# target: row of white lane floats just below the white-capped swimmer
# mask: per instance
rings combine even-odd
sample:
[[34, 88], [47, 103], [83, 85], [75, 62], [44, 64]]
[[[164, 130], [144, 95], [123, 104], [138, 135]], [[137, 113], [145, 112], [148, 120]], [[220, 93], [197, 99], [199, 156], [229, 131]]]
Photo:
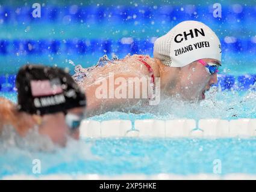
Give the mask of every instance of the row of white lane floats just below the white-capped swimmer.
[[84, 120], [80, 126], [81, 138], [98, 137], [256, 137], [256, 119], [195, 119], [108, 121]]

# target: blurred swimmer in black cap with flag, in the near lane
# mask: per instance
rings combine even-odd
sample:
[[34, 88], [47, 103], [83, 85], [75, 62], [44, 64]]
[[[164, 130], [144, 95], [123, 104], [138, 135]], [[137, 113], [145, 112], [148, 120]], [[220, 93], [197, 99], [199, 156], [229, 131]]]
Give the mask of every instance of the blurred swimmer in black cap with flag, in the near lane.
[[65, 146], [67, 136], [79, 139], [86, 96], [72, 77], [57, 67], [25, 65], [16, 77], [17, 102], [0, 98], [0, 134], [11, 125], [24, 137], [31, 128]]

